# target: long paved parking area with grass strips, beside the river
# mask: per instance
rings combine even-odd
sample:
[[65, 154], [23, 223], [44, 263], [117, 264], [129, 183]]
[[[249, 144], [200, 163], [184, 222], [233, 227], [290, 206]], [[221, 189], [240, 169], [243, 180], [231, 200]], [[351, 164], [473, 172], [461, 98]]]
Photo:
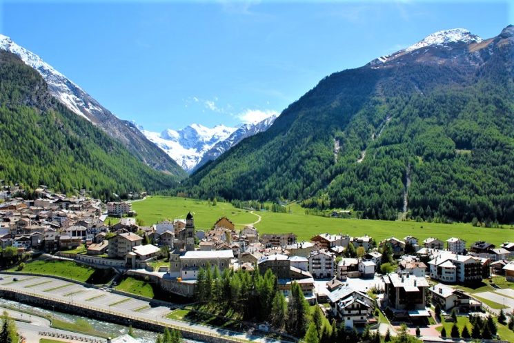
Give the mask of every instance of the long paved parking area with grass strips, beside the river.
[[[12, 279], [17, 277], [18, 281]], [[87, 288], [73, 282], [55, 279], [53, 277], [3, 275], [0, 288], [10, 289], [19, 293], [30, 293], [44, 299], [74, 304], [95, 311], [112, 313], [145, 322], [153, 322], [165, 326], [179, 326], [181, 329], [200, 331], [206, 335], [222, 335], [235, 340], [251, 340], [261, 343], [279, 343], [279, 340], [270, 340], [262, 335], [248, 335], [235, 331], [219, 329], [215, 326], [206, 326], [166, 318], [172, 309], [168, 306], [152, 307], [150, 302], [137, 300], [127, 295], [119, 295], [96, 288]]]

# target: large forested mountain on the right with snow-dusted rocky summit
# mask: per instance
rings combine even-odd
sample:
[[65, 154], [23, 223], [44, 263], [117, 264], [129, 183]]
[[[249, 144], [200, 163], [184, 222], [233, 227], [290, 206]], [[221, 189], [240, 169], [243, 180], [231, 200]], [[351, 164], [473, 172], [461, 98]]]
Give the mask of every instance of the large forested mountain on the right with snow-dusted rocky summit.
[[437, 32], [336, 72], [183, 190], [364, 217], [514, 222], [514, 27]]

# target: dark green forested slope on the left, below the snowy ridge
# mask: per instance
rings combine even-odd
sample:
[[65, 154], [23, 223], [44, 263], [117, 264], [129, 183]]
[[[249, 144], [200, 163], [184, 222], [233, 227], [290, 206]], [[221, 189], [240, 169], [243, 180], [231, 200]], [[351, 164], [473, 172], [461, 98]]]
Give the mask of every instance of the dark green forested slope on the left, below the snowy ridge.
[[57, 101], [46, 81], [17, 56], [0, 51], [0, 179], [30, 188], [84, 188], [109, 199], [175, 185], [118, 141]]

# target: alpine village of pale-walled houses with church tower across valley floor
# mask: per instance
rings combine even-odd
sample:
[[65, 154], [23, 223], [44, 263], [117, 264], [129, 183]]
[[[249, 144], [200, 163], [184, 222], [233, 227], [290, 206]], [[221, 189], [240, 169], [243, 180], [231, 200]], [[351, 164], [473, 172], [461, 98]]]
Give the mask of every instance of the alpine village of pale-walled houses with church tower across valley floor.
[[[365, 233], [318, 233], [304, 242], [295, 233], [259, 234], [251, 225], [238, 230], [228, 217], [210, 228], [196, 228], [192, 213], [140, 226], [130, 202], [103, 204], [46, 188], [36, 190], [37, 199], [22, 195], [19, 186], [3, 186], [0, 192], [1, 251], [15, 251], [19, 258], [11, 256], [10, 261], [21, 264], [21, 272], [24, 260], [43, 253], [46, 259], [155, 280], [164, 291], [190, 298], [202, 269], [271, 271], [285, 297], [299, 285], [310, 306], [319, 306], [328, 320], [349, 330], [395, 335], [395, 325], [406, 323], [412, 335], [466, 338], [468, 333], [434, 327], [470, 314], [499, 321], [508, 315], [513, 322], [512, 287], [468, 291], [497, 276], [514, 282], [513, 242], [495, 246], [414, 235], [376, 242]], [[121, 219], [110, 225], [108, 216]], [[273, 330], [268, 323], [259, 328]], [[496, 332], [482, 336], [502, 339]]]

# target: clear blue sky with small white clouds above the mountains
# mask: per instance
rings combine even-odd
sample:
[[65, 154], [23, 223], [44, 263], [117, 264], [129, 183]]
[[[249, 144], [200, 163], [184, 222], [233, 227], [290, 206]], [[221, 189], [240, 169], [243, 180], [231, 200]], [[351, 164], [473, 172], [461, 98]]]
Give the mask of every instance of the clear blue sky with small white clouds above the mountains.
[[493, 37], [509, 1], [2, 1], [1, 33], [161, 131], [281, 112], [333, 72], [438, 30]]

